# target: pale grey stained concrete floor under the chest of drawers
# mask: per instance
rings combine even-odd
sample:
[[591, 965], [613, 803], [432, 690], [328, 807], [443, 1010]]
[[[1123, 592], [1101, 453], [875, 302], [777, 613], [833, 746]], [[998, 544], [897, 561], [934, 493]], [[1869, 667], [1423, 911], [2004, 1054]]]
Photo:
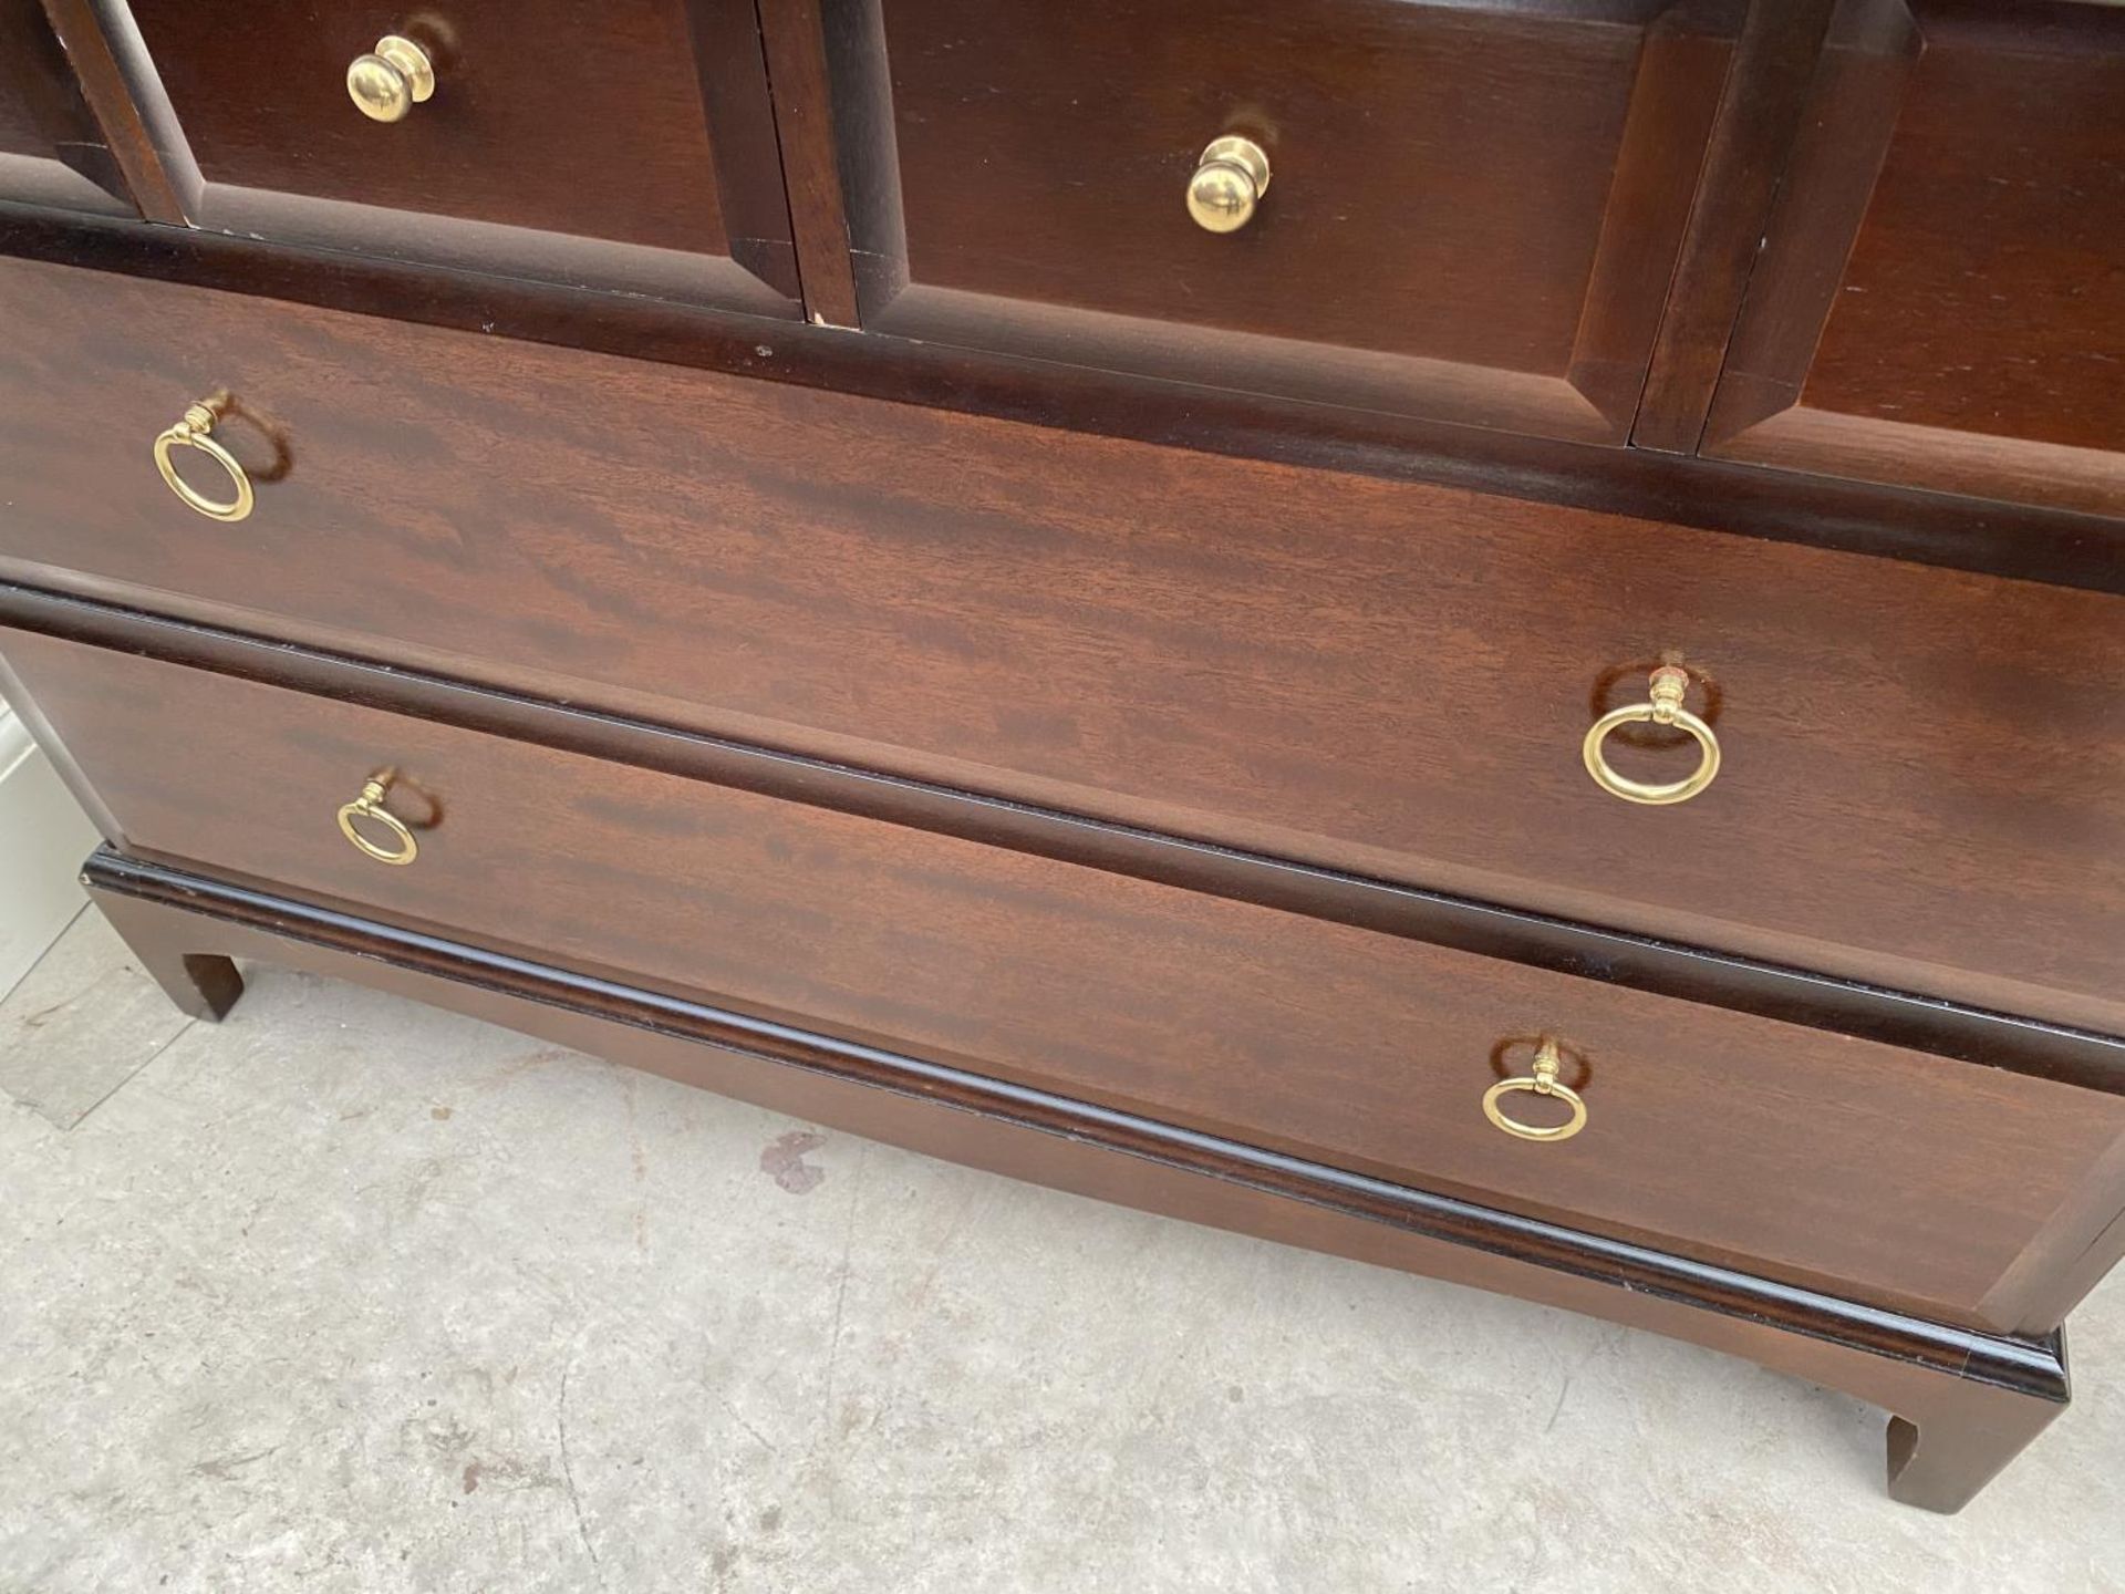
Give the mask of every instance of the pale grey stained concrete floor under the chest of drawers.
[[2125, 1277], [1959, 1517], [1687, 1345], [355, 986], [0, 1003], [0, 1590], [2125, 1590]]

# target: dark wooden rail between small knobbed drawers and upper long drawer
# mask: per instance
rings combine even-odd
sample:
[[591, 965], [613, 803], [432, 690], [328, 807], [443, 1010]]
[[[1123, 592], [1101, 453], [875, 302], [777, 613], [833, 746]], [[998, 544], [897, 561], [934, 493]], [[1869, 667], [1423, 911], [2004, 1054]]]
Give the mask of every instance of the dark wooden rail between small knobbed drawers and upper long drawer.
[[0, 255], [990, 419], [2125, 593], [2125, 521], [1526, 438], [0, 202]]

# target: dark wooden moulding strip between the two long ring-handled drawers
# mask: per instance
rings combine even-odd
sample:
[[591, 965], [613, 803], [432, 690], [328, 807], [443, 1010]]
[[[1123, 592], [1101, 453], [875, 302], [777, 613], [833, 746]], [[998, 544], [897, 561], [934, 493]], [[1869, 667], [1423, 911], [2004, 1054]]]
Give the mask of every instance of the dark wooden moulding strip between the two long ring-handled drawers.
[[[2019, 1014], [1859, 986], [1808, 969], [1751, 963], [1609, 927], [1515, 912], [1468, 897], [1296, 865], [1290, 859], [1188, 842], [1031, 803], [999, 801], [935, 782], [691, 733], [669, 723], [623, 718], [580, 703], [527, 697], [397, 663], [295, 648], [270, 638], [246, 638], [62, 593], [0, 584], [0, 623], [1460, 952], [1511, 959], [1679, 1001], [1730, 1007], [2093, 1090], [2125, 1092], [2125, 1039]], [[21, 697], [28, 699], [28, 691]], [[36, 706], [28, 708], [34, 714]], [[57, 742], [55, 731], [40, 723], [38, 729], [47, 742]], [[76, 795], [100, 812], [94, 791], [79, 786]], [[102, 818], [106, 829], [117, 829], [117, 820]]]

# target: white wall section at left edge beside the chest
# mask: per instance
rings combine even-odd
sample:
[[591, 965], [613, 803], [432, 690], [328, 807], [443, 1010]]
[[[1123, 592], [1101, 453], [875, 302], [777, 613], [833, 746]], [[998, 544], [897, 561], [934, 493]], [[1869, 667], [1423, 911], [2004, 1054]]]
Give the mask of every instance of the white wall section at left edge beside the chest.
[[96, 827], [0, 703], [0, 997], [87, 905], [81, 861]]

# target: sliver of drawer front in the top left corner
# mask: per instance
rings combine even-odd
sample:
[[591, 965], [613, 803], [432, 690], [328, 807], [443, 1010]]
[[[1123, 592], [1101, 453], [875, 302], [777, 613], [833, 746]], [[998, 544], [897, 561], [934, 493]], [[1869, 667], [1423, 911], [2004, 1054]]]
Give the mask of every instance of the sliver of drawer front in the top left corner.
[[125, 183], [38, 0], [0, 0], [0, 202], [130, 217]]

